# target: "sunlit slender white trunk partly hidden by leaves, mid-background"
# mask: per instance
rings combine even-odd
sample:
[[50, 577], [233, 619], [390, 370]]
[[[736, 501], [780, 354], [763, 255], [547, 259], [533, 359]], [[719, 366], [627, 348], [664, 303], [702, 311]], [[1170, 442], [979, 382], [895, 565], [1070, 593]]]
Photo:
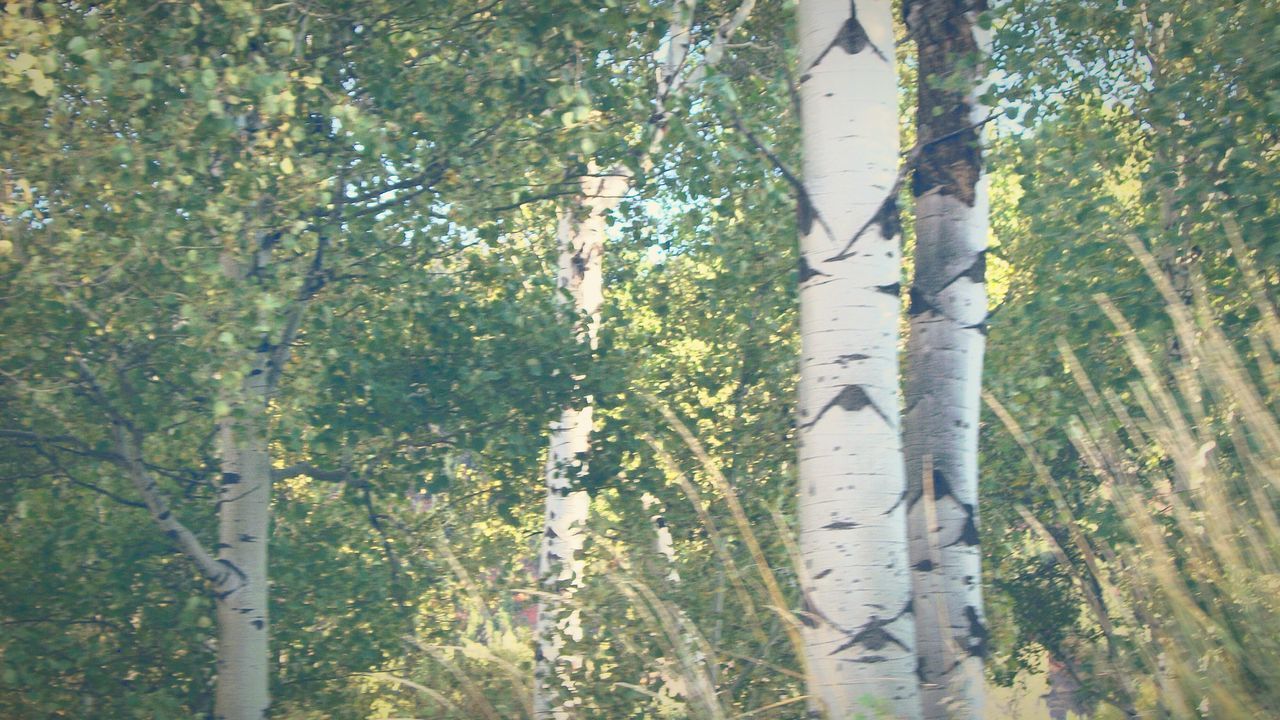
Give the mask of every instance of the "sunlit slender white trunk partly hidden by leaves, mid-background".
[[[561, 243], [559, 287], [568, 292], [582, 316], [579, 340], [596, 345], [600, 305], [604, 301], [605, 217], [626, 193], [630, 178], [623, 174], [581, 178], [581, 196], [566, 209], [557, 234]], [[538, 638], [534, 669], [535, 717], [571, 717], [575, 700], [568, 674], [581, 657], [563, 651], [568, 641], [580, 641], [579, 612], [570, 610], [572, 596], [582, 585], [581, 556], [590, 497], [581, 486], [591, 442], [591, 405], [566, 407], [552, 425], [547, 457], [547, 519], [539, 552], [538, 574], [549, 597], [538, 607]]]

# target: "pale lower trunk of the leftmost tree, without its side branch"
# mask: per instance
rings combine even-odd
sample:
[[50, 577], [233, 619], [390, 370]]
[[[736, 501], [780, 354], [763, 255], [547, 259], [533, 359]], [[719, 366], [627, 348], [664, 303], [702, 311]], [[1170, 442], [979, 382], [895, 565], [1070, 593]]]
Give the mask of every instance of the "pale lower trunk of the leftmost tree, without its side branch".
[[[219, 720], [262, 720], [268, 689], [268, 566], [271, 461], [266, 441], [270, 352], [260, 351], [243, 383], [239, 418], [218, 427], [221, 482], [218, 489], [218, 562], [229, 573], [218, 598]], [[234, 405], [233, 405], [234, 406]]]

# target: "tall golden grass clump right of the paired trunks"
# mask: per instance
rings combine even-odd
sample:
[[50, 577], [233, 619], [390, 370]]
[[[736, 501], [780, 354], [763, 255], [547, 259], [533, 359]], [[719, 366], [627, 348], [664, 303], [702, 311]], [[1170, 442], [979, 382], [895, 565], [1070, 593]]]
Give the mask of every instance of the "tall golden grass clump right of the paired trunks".
[[1193, 283], [1198, 291], [1185, 302], [1137, 238], [1128, 245], [1164, 300], [1181, 359], [1161, 366], [1101, 295], [1094, 300], [1140, 379], [1120, 388], [1096, 384], [1060, 342], [1085, 397], [1068, 436], [1124, 520], [1124, 541], [1083, 532], [1016, 418], [986, 397], [1068, 529], [1074, 564], [1021, 511], [1074, 573], [1103, 638], [1092, 679], [1111, 687], [1129, 716], [1280, 717], [1280, 315], [1234, 240], [1257, 314], [1248, 360], [1203, 282]]

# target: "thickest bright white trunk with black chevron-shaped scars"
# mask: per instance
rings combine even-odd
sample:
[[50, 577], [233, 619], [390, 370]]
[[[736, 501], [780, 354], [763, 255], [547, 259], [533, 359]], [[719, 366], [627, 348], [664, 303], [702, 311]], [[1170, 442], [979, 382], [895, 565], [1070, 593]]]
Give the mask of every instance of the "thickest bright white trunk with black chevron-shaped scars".
[[890, 0], [800, 1], [800, 552], [809, 693], [920, 715], [899, 439], [901, 251]]

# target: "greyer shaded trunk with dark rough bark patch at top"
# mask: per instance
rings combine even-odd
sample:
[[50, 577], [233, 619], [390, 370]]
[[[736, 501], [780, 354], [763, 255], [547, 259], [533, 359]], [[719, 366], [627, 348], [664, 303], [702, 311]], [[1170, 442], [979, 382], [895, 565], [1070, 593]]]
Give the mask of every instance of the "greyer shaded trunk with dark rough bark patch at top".
[[[913, 178], [905, 450], [922, 700], [928, 719], [982, 717], [987, 628], [978, 547], [987, 179], [977, 100], [983, 0], [909, 0], [922, 143]], [[957, 88], [957, 85], [960, 86]], [[965, 90], [968, 87], [968, 90]]]

